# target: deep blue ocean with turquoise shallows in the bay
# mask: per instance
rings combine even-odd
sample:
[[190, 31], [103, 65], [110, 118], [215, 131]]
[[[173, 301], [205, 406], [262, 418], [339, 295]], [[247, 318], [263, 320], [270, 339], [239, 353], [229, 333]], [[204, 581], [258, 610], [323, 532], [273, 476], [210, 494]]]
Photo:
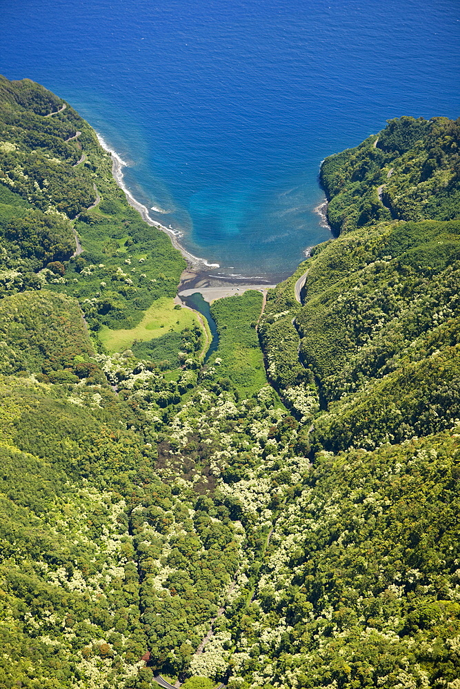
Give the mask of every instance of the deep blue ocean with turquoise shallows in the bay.
[[70, 101], [154, 219], [220, 271], [329, 237], [321, 160], [403, 114], [460, 116], [457, 0], [1, 0], [0, 73]]

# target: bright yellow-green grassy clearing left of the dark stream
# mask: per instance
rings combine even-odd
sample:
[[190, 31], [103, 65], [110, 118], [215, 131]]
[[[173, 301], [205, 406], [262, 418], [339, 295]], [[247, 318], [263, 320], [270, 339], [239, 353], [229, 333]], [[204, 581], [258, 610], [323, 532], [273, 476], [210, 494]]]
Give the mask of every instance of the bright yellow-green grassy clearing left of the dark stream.
[[109, 352], [123, 351], [132, 345], [134, 340], [146, 342], [159, 338], [168, 331], [180, 332], [183, 328], [197, 323], [197, 318], [190, 309], [174, 309], [174, 300], [161, 297], [145, 312], [143, 319], [130, 330], [112, 330], [103, 325], [99, 338]]

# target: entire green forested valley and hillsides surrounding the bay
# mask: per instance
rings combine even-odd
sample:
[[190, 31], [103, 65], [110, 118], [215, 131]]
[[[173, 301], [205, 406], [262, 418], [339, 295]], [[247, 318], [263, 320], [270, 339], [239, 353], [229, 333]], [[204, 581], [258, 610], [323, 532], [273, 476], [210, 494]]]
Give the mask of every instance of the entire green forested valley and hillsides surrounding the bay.
[[459, 134], [327, 158], [336, 238], [205, 363], [91, 127], [0, 77], [0, 686], [459, 689]]

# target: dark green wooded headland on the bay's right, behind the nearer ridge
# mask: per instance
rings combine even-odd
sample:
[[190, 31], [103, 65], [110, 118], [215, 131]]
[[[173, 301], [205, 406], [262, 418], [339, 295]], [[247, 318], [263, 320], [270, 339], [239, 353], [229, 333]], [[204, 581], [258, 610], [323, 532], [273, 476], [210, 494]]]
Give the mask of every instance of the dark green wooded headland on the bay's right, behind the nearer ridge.
[[452, 220], [460, 203], [460, 123], [401, 117], [321, 165], [337, 232], [389, 220]]

